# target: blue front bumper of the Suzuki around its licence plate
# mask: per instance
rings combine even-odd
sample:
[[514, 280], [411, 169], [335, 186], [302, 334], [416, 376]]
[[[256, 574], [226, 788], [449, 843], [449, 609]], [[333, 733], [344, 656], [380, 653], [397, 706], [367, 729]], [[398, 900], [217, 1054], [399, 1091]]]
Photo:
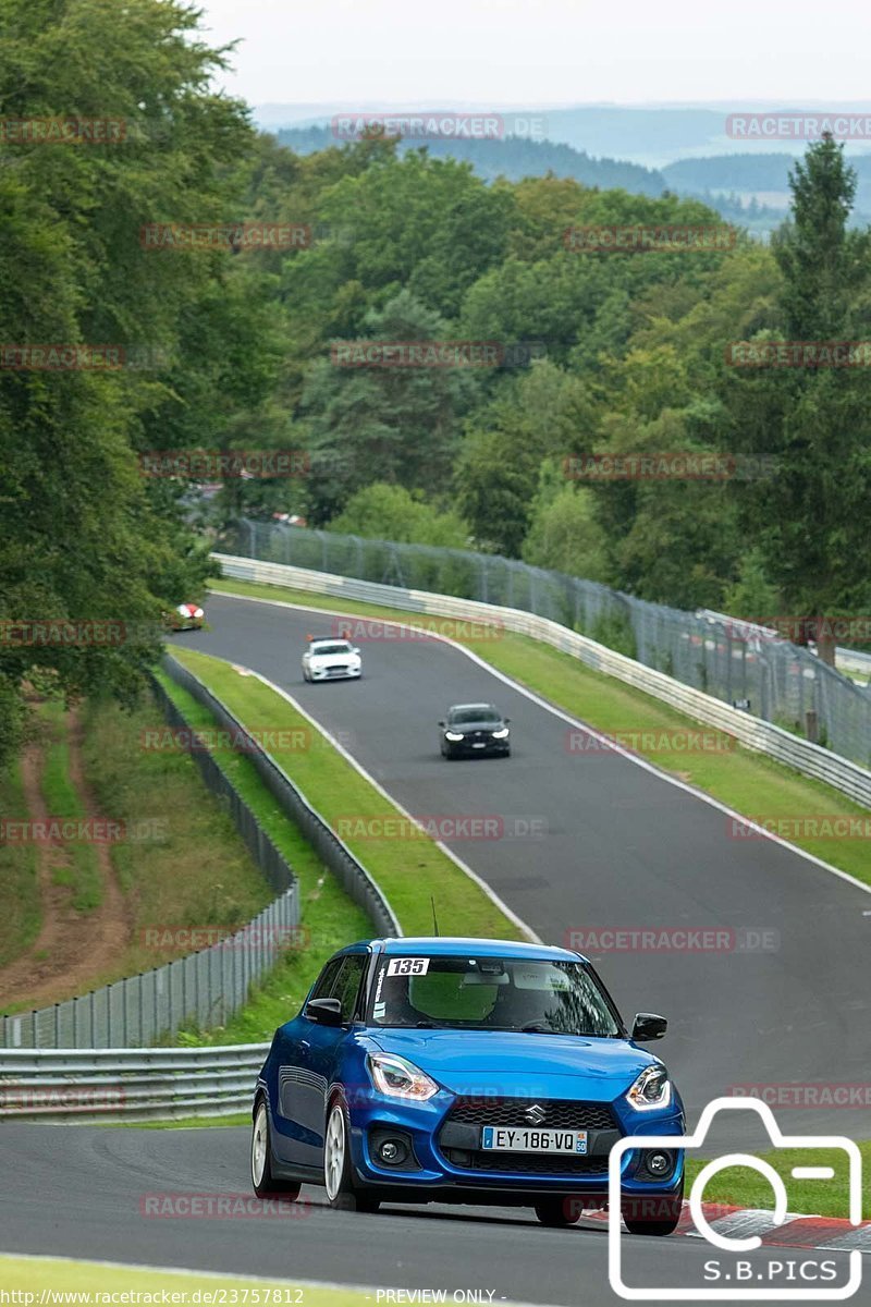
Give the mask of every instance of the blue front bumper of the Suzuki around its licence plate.
[[[661, 1180], [645, 1178], [642, 1148], [645, 1134], [684, 1133], [680, 1108], [673, 1104], [662, 1112], [646, 1112], [633, 1121], [614, 1103], [611, 1128], [589, 1131], [589, 1154], [565, 1162], [560, 1155], [522, 1153], [496, 1154], [479, 1149], [481, 1128], [458, 1125], [451, 1110], [453, 1094], [441, 1091], [428, 1103], [396, 1103], [372, 1093], [349, 1104], [351, 1158], [360, 1187], [404, 1196], [402, 1201], [518, 1202], [530, 1196], [563, 1193], [602, 1199], [609, 1187], [609, 1151], [627, 1134], [637, 1136], [639, 1149], [626, 1153], [622, 1191], [629, 1195], [676, 1193], [683, 1184], [683, 1153], [675, 1150], [675, 1166]], [[653, 1119], [652, 1119], [653, 1117]], [[627, 1128], [632, 1125], [632, 1128]], [[406, 1140], [410, 1155], [401, 1166], [388, 1166], [376, 1154], [376, 1145], [388, 1134]], [[528, 1162], [526, 1159], [530, 1158]]]

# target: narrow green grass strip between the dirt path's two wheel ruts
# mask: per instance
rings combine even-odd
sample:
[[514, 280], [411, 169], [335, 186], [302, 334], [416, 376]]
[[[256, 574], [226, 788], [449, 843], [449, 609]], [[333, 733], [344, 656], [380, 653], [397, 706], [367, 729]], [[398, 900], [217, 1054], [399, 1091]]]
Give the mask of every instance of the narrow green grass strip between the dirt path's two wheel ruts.
[[[69, 775], [68, 718], [56, 699], [40, 704], [39, 718], [48, 728], [48, 745], [40, 788], [50, 817], [85, 817], [85, 805]], [[103, 902], [103, 877], [97, 850], [85, 840], [64, 843], [67, 865], [52, 873], [56, 885], [71, 889], [71, 902], [77, 912], [95, 912]]]

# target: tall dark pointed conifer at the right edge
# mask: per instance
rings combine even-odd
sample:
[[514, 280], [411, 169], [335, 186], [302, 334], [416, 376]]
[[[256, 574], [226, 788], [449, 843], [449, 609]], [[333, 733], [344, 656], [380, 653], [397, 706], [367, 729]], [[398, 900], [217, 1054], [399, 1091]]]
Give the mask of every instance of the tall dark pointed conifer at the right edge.
[[[793, 217], [774, 243], [780, 339], [867, 339], [870, 242], [846, 226], [855, 174], [844, 146], [828, 136], [811, 145], [790, 188]], [[833, 665], [836, 638], [820, 618], [864, 613], [871, 601], [871, 374], [867, 366], [736, 372], [726, 396], [733, 447], [777, 461], [776, 474], [740, 488], [746, 531], [790, 616], [816, 622], [820, 657]]]

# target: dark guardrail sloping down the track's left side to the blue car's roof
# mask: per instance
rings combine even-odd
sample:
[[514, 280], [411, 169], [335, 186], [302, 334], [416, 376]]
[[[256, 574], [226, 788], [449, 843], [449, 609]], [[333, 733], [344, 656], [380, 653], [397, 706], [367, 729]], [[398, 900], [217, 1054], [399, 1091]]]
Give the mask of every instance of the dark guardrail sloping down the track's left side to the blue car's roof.
[[193, 672], [189, 672], [188, 668], [183, 667], [171, 655], [163, 659], [163, 668], [175, 684], [193, 695], [197, 703], [206, 707], [226, 731], [244, 737], [245, 757], [253, 765], [266, 789], [282, 812], [299, 826], [317, 856], [341, 882], [349, 898], [358, 907], [363, 908], [375, 924], [376, 931], [380, 935], [402, 935], [402, 927], [393, 908], [363, 864], [354, 857], [347, 844], [338, 838], [316, 808], [309, 804], [308, 799], [294, 784], [287, 772], [245, 731], [242, 721], [234, 716], [226, 703], [213, 694]]

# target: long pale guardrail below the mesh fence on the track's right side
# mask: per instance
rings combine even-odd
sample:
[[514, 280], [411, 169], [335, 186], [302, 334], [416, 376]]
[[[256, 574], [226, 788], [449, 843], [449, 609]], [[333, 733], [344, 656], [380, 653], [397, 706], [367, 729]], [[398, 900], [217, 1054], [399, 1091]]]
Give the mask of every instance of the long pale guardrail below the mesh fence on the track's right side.
[[355, 580], [287, 563], [266, 563], [253, 558], [219, 553], [214, 553], [212, 557], [221, 563], [225, 576], [234, 576], [238, 580], [285, 586], [319, 595], [332, 595], [340, 601], [359, 600], [411, 613], [479, 622], [487, 620], [501, 622], [505, 630], [518, 635], [529, 635], [563, 654], [571, 654], [586, 667], [644, 690], [645, 694], [678, 708], [688, 718], [725, 731], [746, 748], [774, 758], [804, 776], [823, 780], [847, 795], [854, 802], [871, 808], [871, 771], [867, 769], [791, 735], [770, 721], [763, 721], [740, 708], [734, 708], [703, 690], [683, 685], [666, 676], [665, 672], [636, 663], [635, 659], [618, 654], [605, 644], [598, 644], [586, 635], [578, 635], [568, 626], [562, 626], [547, 617], [535, 617], [521, 609], [482, 604], [471, 599], [454, 599], [449, 595], [434, 595], [428, 591]]

